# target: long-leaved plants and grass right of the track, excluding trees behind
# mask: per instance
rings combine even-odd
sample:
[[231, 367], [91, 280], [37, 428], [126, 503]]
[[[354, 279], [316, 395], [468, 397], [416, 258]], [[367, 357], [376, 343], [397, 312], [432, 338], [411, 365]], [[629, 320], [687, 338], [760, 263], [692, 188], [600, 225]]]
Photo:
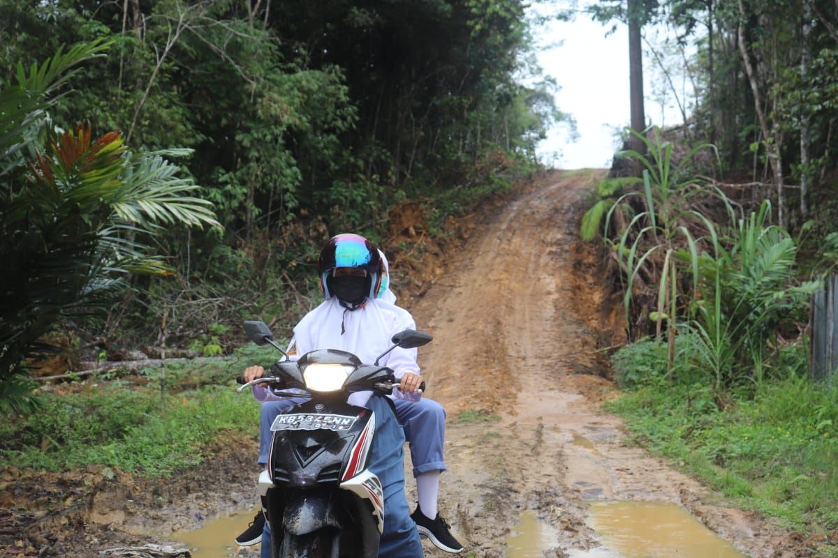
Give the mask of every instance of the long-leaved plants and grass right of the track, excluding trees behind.
[[670, 143], [644, 142], [648, 156], [629, 153], [642, 188], [600, 224], [636, 337], [613, 356], [629, 392], [611, 408], [742, 507], [834, 531], [838, 389], [811, 381], [802, 330], [821, 281], [799, 279], [798, 240], [770, 223], [769, 200], [739, 207], [673, 166]]

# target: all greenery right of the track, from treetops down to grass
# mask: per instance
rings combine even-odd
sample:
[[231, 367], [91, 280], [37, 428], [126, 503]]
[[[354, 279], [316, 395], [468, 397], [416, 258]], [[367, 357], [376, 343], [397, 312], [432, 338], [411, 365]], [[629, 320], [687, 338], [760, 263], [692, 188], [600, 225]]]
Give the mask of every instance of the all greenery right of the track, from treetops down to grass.
[[[592, 12], [625, 21], [629, 5]], [[632, 341], [613, 355], [626, 393], [611, 408], [639, 442], [833, 556], [838, 390], [809, 376], [808, 310], [836, 261], [838, 3], [634, 5], [643, 25], [675, 29], [665, 48], [695, 93], [683, 125], [633, 125], [582, 220], [608, 248]]]

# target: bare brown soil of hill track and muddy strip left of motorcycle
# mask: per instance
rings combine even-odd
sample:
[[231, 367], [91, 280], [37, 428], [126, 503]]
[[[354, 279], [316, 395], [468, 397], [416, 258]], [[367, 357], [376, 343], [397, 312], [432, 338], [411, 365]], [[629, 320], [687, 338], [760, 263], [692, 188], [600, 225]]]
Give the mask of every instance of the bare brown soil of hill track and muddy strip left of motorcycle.
[[[808, 555], [805, 540], [727, 507], [677, 465], [624, 443], [621, 422], [602, 411], [613, 397], [604, 349], [621, 341], [619, 315], [600, 283], [601, 256], [577, 238], [584, 198], [601, 176], [552, 173], [486, 207], [463, 246], [445, 254], [444, 268], [430, 271], [430, 287], [405, 302], [434, 335], [420, 359], [428, 397], [448, 411], [442, 514], [465, 555], [485, 558], [505, 555], [525, 509], [560, 533], [547, 555], [597, 547], [585, 522], [591, 500], [673, 502], [746, 555]], [[462, 412], [472, 420], [458, 422]], [[100, 468], [5, 471], [0, 556], [95, 556], [164, 544], [173, 530], [251, 508], [256, 444], [225, 440], [214, 453], [160, 482]]]

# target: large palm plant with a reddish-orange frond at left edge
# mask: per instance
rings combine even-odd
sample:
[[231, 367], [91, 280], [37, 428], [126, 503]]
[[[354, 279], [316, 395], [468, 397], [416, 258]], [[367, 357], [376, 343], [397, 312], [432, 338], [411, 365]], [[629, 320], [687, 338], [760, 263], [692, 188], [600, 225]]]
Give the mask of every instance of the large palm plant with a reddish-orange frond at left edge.
[[[106, 44], [59, 50], [0, 90], [0, 412], [26, 411], [27, 359], [68, 315], [90, 313], [131, 273], [170, 273], [149, 255], [164, 226], [220, 227], [198, 188], [166, 156], [132, 153], [119, 132], [94, 140], [80, 125], [54, 136], [49, 107], [70, 70]], [[51, 139], [50, 139], [51, 137]]]

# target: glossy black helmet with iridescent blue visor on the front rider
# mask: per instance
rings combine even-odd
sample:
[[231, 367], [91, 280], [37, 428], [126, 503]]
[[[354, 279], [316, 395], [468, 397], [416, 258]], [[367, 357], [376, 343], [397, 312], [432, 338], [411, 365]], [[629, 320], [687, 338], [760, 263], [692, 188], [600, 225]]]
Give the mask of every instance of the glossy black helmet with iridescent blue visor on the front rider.
[[378, 248], [373, 243], [358, 234], [350, 233], [329, 238], [317, 262], [320, 289], [327, 299], [333, 295], [328, 287], [328, 278], [335, 268], [364, 269], [368, 279], [367, 298], [375, 299], [381, 286], [381, 274]]

